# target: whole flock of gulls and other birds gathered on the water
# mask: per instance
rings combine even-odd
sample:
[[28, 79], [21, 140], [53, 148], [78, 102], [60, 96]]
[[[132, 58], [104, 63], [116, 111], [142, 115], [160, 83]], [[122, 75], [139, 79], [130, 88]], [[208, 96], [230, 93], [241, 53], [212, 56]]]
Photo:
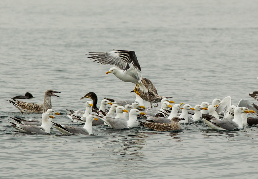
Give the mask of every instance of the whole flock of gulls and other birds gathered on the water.
[[[97, 95], [89, 92], [81, 98], [92, 100], [85, 103], [85, 111], [68, 110], [67, 116], [73, 122], [83, 123], [83, 127], [58, 124], [53, 122], [54, 114], [60, 115], [52, 110], [51, 96], [60, 93], [54, 90], [47, 90], [43, 104], [27, 103], [16, 99], [33, 98], [32, 94], [25, 96], [15, 96], [9, 100], [20, 112], [42, 113], [42, 120], [28, 120], [18, 117], [12, 118], [15, 122], [10, 122], [11, 127], [20, 132], [48, 134], [54, 126], [62, 134], [91, 135], [93, 125], [108, 125], [113, 129], [125, 129], [144, 126], [155, 131], [177, 131], [181, 129], [181, 124], [188, 122], [198, 122], [203, 120], [214, 130], [235, 130], [243, 129], [246, 126], [255, 125], [258, 127], [258, 106], [249, 100], [241, 99], [234, 106], [231, 104], [231, 97], [222, 100], [214, 99], [210, 105], [202, 102], [191, 107], [189, 104], [175, 104], [169, 100], [169, 96], [158, 95], [157, 89], [149, 79], [143, 78], [141, 68], [134, 51], [116, 50], [112, 52], [87, 52], [89, 59], [106, 65], [115, 65], [108, 73], [113, 73], [117, 78], [125, 82], [135, 84], [132, 92], [135, 92], [135, 100], [115, 100], [104, 98], [97, 108]], [[130, 67], [131, 64], [131, 67]], [[258, 78], [258, 77], [257, 77]], [[258, 91], [250, 93], [250, 96], [257, 99]], [[150, 108], [144, 107], [144, 100], [150, 102]], [[161, 108], [158, 109], [158, 102]], [[153, 103], [156, 108], [153, 108]], [[173, 106], [171, 105], [173, 104]], [[111, 105], [108, 109], [106, 105]], [[183, 105], [183, 106], [182, 106]], [[251, 117], [250, 117], [251, 116]], [[8, 121], [9, 122], [9, 121]]]

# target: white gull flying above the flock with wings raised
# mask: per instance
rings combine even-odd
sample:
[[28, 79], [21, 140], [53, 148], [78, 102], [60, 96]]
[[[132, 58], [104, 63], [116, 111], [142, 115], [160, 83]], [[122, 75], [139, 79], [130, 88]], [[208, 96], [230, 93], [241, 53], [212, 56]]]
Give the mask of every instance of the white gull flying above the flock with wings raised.
[[[88, 52], [91, 54], [90, 59], [93, 59], [94, 62], [100, 63], [102, 65], [115, 65], [116, 67], [110, 68], [106, 73], [113, 73], [117, 78], [122, 81], [130, 82], [135, 84], [134, 92], [140, 96], [138, 93], [139, 86], [146, 93], [148, 89], [142, 84], [142, 73], [141, 67], [138, 63], [137, 57], [134, 51], [127, 50], [116, 50], [112, 52]], [[129, 64], [132, 64], [130, 67]], [[137, 90], [136, 90], [137, 87]]]

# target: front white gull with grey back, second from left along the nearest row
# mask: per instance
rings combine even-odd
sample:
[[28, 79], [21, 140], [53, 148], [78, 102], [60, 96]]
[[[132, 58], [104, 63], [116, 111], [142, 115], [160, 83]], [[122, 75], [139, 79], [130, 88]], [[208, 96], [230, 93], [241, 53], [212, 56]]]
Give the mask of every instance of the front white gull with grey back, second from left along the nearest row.
[[92, 122], [98, 120], [94, 116], [87, 116], [85, 118], [85, 124], [81, 127], [68, 126], [63, 124], [58, 124], [52, 122], [56, 129], [58, 129], [62, 134], [74, 134], [74, 135], [91, 135], [92, 134]]

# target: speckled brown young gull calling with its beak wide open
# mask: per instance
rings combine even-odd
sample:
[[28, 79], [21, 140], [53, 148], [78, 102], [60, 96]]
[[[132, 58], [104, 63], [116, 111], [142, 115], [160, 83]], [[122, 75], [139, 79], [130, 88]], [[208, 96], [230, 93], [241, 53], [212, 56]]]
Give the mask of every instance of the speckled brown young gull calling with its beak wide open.
[[57, 96], [54, 93], [61, 92], [56, 92], [51, 89], [46, 90], [43, 104], [26, 103], [23, 101], [15, 100], [13, 98], [11, 98], [13, 101], [9, 100], [9, 102], [18, 108], [20, 112], [46, 112], [48, 109], [52, 108], [51, 96], [60, 98], [60, 96]]

